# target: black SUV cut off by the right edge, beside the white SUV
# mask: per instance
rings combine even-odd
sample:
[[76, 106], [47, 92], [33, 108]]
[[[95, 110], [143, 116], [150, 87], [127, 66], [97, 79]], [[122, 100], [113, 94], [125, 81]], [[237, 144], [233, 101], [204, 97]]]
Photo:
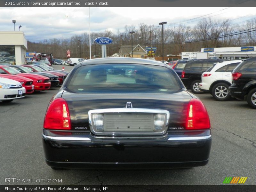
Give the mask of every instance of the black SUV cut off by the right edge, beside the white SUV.
[[256, 109], [256, 57], [242, 60], [232, 72], [232, 85], [229, 94]]

